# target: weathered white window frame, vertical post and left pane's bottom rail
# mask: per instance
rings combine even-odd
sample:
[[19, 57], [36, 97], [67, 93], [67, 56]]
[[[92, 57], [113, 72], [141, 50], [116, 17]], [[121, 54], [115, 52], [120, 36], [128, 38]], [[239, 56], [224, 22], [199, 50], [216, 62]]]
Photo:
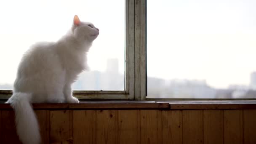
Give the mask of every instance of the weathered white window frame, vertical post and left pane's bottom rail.
[[[73, 91], [79, 99], [146, 99], [146, 0], [125, 0], [125, 90]], [[8, 99], [9, 90], [0, 90]]]

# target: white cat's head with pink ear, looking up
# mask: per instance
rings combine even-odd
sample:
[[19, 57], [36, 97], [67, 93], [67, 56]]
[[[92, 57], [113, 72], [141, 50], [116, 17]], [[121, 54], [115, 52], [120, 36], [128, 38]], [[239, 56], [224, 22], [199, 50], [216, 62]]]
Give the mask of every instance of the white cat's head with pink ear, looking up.
[[99, 29], [90, 22], [82, 22], [77, 15], [74, 16], [72, 32], [75, 39], [81, 43], [93, 42], [98, 35]]

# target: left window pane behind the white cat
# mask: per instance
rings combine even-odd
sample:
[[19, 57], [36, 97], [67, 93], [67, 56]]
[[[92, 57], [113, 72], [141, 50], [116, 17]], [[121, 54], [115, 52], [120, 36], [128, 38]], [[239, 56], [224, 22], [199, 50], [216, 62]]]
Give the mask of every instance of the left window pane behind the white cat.
[[56, 41], [74, 15], [100, 29], [88, 53], [90, 71], [75, 90], [124, 90], [125, 0], [3, 0], [0, 2], [0, 89], [12, 89], [22, 54], [35, 42]]

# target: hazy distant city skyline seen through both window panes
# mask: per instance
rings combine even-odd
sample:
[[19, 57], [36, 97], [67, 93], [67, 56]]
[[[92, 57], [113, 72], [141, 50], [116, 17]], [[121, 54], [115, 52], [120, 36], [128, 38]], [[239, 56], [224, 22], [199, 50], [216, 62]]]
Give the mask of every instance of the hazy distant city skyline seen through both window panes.
[[[147, 77], [149, 98], [256, 98], [256, 72], [251, 73], [248, 85], [231, 84], [226, 89], [213, 88], [205, 80]], [[12, 85], [0, 85], [0, 89], [12, 89]], [[104, 72], [85, 71], [72, 85], [73, 90], [123, 91], [124, 75], [118, 72], [118, 60], [109, 59]]]

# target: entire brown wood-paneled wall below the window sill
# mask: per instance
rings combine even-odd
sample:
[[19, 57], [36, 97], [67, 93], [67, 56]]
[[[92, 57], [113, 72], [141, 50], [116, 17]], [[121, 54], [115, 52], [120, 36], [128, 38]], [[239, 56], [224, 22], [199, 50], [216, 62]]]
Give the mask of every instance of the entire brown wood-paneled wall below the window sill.
[[[35, 110], [43, 144], [256, 144], [256, 110]], [[0, 111], [0, 144], [20, 144]]]

